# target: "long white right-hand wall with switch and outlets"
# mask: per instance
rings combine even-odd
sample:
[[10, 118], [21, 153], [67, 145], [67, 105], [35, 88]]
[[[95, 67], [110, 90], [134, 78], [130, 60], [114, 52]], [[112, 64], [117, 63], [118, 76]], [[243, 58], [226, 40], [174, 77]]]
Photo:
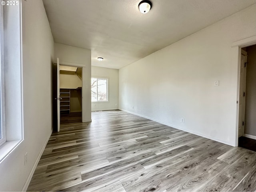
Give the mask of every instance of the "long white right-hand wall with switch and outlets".
[[238, 48], [231, 46], [255, 35], [254, 4], [121, 68], [119, 108], [235, 146]]

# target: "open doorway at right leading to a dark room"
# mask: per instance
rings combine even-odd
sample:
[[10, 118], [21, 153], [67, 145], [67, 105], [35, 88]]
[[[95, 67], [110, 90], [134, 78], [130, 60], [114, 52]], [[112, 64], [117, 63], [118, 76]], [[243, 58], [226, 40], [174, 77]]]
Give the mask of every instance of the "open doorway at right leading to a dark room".
[[241, 48], [238, 146], [256, 151], [256, 45]]

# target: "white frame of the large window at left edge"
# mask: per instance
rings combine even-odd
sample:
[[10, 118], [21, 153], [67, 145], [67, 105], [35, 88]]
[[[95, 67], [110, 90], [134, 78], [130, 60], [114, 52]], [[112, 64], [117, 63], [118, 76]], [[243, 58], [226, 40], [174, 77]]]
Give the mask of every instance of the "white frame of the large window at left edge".
[[22, 83], [22, 1], [1, 6], [1, 126], [2, 163], [24, 140]]

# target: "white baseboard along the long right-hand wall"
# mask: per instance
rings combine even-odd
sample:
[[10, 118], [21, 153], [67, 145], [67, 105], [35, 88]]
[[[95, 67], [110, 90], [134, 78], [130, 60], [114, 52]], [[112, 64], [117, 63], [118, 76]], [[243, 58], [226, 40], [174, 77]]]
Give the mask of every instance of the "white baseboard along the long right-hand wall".
[[120, 109], [119, 110], [121, 111], [124, 111], [124, 112], [128, 112], [128, 113], [131, 113], [131, 114], [134, 114], [134, 115], [137, 115], [137, 116], [140, 116], [140, 117], [144, 117], [146, 119], [149, 119], [149, 120], [152, 120], [152, 121], [155, 121], [155, 122], [158, 122], [158, 123], [161, 123], [161, 124], [164, 124], [164, 125], [167, 125], [167, 126], [170, 126], [170, 127], [173, 127], [173, 128], [176, 128], [178, 130], [182, 130], [182, 131], [186, 131], [186, 132], [189, 132], [189, 133], [192, 133], [192, 134], [195, 134], [195, 135], [198, 135], [198, 136], [201, 136], [201, 137], [204, 137], [204, 138], [208, 138], [210, 140], [214, 140], [214, 141], [218, 141], [218, 142], [221, 142], [221, 143], [224, 143], [224, 144], [227, 144], [227, 145], [230, 145], [230, 146], [234, 146], [233, 143], [229, 143], [225, 140], [222, 140], [220, 138], [216, 138], [216, 137], [213, 137], [213, 136], [209, 136], [209, 135], [205, 135], [205, 134], [202, 134], [202, 133], [199, 133], [199, 132], [196, 132], [196, 131], [193, 131], [193, 130], [189, 130], [189, 129], [186, 129], [186, 128], [181, 128], [179, 126], [176, 126], [176, 125], [173, 125], [173, 124], [168, 124], [166, 122], [161, 122], [157, 119], [154, 119], [154, 118], [150, 118], [150, 117], [147, 117], [147, 116], [144, 116], [144, 115], [141, 115], [141, 114], [137, 114], [137, 113], [134, 113], [134, 112], [130, 112], [128, 110], [124, 110], [124, 109]]

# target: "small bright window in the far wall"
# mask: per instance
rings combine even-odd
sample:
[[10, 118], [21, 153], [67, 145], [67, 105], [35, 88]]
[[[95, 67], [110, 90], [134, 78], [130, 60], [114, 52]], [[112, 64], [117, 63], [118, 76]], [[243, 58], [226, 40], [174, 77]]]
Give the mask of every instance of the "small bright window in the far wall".
[[108, 78], [92, 77], [92, 102], [108, 101]]

